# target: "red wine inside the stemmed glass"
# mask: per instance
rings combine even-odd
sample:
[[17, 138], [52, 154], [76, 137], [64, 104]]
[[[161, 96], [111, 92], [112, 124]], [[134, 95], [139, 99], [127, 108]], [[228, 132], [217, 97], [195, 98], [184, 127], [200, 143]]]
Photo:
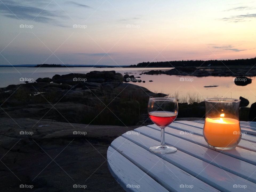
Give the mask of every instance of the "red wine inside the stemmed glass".
[[177, 113], [169, 111], [151, 111], [149, 118], [159, 127], [170, 125], [177, 117]]

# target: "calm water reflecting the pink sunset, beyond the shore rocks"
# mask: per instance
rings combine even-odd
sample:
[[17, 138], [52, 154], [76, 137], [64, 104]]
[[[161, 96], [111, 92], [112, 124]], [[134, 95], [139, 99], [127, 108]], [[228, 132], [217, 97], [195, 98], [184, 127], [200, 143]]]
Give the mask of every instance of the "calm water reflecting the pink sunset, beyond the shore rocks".
[[[16, 70], [17, 69], [17, 70]], [[132, 73], [135, 77], [141, 77], [145, 83], [133, 83], [146, 87], [150, 91], [157, 93], [165, 93], [174, 95], [179, 94], [179, 97], [187, 95], [198, 96], [200, 99], [204, 98], [239, 98], [240, 96], [248, 99], [250, 105], [256, 102], [256, 82], [255, 77], [252, 83], [247, 86], [237, 86], [234, 83], [234, 77], [192, 77], [192, 76], [177, 76], [177, 75], [139, 75], [139, 73], [150, 70], [170, 70], [172, 68], [91, 68], [91, 67], [73, 67], [73, 68], [35, 68], [35, 67], [0, 67], [0, 87], [6, 87], [11, 84], [23, 83], [20, 78], [32, 78], [34, 81], [41, 77], [50, 77], [59, 74], [69, 73], [88, 73], [90, 71], [112, 71], [115, 70], [121, 74]], [[185, 81], [180, 81], [180, 78]], [[153, 82], [149, 82], [153, 80]], [[204, 87], [210, 85], [218, 85], [218, 87]], [[249, 105], [249, 106], [250, 106]]]

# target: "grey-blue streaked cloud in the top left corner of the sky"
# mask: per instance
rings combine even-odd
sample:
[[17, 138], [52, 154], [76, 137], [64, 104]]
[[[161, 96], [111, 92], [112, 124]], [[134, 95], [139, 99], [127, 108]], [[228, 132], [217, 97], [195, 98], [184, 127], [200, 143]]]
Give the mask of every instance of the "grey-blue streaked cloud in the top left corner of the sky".
[[57, 21], [54, 17], [65, 18], [59, 11], [47, 11], [38, 7], [25, 6], [14, 1], [0, 2], [0, 11], [5, 17], [40, 23], [56, 23]]

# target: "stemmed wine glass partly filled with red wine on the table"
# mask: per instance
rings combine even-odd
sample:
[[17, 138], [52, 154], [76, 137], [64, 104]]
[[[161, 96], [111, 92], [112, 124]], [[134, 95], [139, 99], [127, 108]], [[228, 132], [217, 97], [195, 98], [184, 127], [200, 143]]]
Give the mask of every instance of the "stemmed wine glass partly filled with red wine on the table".
[[170, 125], [178, 115], [178, 102], [174, 98], [149, 98], [149, 118], [161, 128], [161, 145], [150, 147], [154, 153], [172, 153], [177, 151], [173, 146], [165, 145], [165, 127]]

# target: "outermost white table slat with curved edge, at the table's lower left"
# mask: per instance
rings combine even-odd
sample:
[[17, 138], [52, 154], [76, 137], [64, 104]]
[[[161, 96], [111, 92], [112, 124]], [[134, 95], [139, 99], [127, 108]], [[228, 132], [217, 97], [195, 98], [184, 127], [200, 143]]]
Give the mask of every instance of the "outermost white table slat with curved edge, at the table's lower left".
[[111, 174], [125, 191], [168, 192], [111, 146], [107, 150], [107, 162]]

